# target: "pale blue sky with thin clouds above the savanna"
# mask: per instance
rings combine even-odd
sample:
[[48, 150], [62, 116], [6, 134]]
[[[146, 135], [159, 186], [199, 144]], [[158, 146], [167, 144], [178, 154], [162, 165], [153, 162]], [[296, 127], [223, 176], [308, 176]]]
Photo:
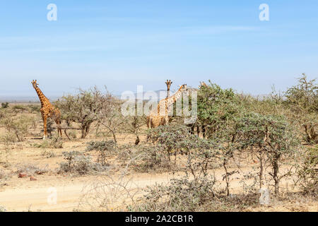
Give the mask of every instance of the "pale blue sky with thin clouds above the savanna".
[[[57, 21], [47, 20], [48, 4]], [[270, 20], [260, 21], [260, 4]], [[317, 1], [1, 1], [0, 95], [47, 96], [165, 80], [265, 94], [318, 76]]]

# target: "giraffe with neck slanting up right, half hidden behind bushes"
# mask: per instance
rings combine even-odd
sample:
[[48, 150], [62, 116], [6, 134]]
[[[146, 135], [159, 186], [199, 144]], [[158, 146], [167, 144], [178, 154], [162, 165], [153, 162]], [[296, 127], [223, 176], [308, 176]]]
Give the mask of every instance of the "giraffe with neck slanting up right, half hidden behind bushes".
[[[147, 117], [148, 129], [163, 126], [168, 123], [169, 117], [167, 108], [173, 105], [180, 97], [182, 97], [182, 93], [186, 90], [187, 84], [180, 85], [179, 90], [177, 90], [177, 92], [174, 95], [160, 100], [157, 108], [154, 109]], [[160, 109], [165, 109], [165, 113], [160, 113]]]

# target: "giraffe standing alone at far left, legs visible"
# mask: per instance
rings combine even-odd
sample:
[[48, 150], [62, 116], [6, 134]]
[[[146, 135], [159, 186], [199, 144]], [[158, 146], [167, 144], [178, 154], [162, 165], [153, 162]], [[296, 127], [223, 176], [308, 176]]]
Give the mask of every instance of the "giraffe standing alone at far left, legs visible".
[[33, 88], [37, 92], [41, 102], [41, 114], [43, 119], [43, 126], [44, 126], [44, 136], [43, 139], [47, 138], [47, 118], [52, 118], [57, 123], [57, 134], [62, 136], [61, 133], [61, 112], [57, 107], [54, 107], [47, 97], [42, 93], [40, 88], [37, 87], [37, 81], [33, 80], [32, 82]]

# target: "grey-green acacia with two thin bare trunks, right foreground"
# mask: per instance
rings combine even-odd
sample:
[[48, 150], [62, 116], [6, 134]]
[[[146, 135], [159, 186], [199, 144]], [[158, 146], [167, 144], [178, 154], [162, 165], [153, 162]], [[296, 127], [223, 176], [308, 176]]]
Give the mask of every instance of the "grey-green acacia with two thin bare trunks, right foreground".
[[295, 153], [299, 141], [285, 117], [280, 115], [245, 114], [236, 126], [236, 143], [240, 150], [250, 150], [259, 159], [259, 186], [264, 186], [266, 162], [269, 162], [274, 181], [275, 194], [278, 194], [281, 179], [287, 176], [279, 172], [281, 160]]

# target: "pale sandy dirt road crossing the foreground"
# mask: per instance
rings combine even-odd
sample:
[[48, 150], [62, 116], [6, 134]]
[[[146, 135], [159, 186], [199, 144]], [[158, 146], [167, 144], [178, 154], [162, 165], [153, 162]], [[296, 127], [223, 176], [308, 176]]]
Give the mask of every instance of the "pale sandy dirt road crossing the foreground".
[[[126, 177], [124, 181], [129, 180], [129, 189], [143, 189], [155, 183], [167, 183], [171, 177], [167, 174], [148, 174], [136, 178]], [[24, 188], [7, 188], [0, 191], [0, 206], [8, 211], [73, 211], [78, 208], [80, 198], [86, 192], [85, 188], [100, 179], [107, 177], [86, 177], [84, 182], [83, 179], [73, 179], [68, 184], [57, 182], [54, 186], [47, 186], [43, 182]]]

